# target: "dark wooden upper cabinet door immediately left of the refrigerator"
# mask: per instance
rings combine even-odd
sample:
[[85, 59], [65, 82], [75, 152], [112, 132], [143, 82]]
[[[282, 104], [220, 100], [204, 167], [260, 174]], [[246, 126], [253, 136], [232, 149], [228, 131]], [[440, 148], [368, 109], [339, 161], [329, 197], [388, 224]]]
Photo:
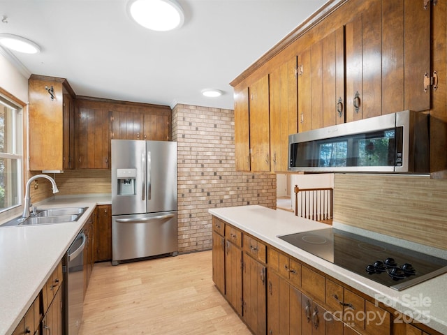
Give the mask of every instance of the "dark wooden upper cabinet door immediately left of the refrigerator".
[[110, 117], [106, 109], [79, 106], [78, 168], [110, 168]]

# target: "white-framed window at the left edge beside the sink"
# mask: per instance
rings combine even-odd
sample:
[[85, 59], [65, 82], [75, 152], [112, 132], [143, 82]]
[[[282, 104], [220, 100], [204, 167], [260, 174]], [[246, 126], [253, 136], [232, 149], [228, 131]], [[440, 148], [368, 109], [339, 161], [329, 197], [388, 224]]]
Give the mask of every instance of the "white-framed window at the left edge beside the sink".
[[22, 107], [0, 95], [0, 211], [22, 199]]

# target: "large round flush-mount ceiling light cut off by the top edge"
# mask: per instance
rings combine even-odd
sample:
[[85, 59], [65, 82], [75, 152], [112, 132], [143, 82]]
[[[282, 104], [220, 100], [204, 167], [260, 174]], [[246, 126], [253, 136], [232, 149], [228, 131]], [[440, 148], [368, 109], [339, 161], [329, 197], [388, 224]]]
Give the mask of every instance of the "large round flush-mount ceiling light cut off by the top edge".
[[174, 0], [131, 0], [129, 14], [142, 27], [155, 31], [169, 31], [182, 27], [184, 14]]

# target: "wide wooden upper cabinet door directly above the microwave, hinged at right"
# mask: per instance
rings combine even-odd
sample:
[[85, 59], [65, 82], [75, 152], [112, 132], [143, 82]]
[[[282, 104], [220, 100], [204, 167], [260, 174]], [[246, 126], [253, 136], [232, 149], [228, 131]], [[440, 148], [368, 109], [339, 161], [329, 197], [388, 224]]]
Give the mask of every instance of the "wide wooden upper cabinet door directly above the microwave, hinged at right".
[[369, 0], [346, 23], [346, 121], [429, 110], [430, 6]]

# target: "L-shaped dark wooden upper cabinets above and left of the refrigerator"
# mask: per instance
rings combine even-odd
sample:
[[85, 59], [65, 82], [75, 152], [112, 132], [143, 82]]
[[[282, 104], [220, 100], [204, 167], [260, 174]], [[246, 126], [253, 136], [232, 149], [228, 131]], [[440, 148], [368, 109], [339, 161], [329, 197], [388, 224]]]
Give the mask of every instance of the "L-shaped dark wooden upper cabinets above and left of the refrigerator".
[[110, 169], [111, 140], [170, 140], [168, 106], [78, 98], [78, 169]]

